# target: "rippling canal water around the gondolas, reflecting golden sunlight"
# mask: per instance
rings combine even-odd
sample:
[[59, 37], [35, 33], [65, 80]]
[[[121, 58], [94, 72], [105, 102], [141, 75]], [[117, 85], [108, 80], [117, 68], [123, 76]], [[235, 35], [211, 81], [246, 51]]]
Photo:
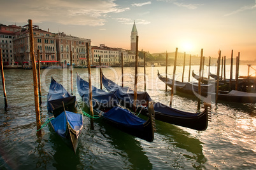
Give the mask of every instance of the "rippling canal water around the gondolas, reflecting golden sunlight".
[[[196, 73], [199, 66], [192, 66]], [[157, 78], [165, 67], [146, 67], [146, 91], [153, 100], [169, 105], [170, 88]], [[183, 67], [177, 67], [181, 81]], [[229, 77], [227, 67], [226, 76]], [[88, 80], [87, 69], [73, 70], [74, 95], [83, 106], [76, 89], [76, 72]], [[144, 90], [143, 68], [138, 68], [138, 89]], [[172, 77], [173, 67], [168, 67]], [[216, 67], [211, 67], [216, 73]], [[247, 75], [246, 65], [240, 75]], [[103, 68], [104, 75], [121, 84], [121, 68]], [[124, 68], [124, 85], [134, 88], [134, 68]], [[206, 131], [174, 126], [156, 121], [153, 142], [143, 141], [113, 128], [102, 119], [90, 129], [84, 117], [83, 134], [76, 154], [54, 133], [48, 124], [42, 135], [36, 135], [36, 115], [32, 70], [4, 70], [8, 109], [4, 111], [3, 88], [0, 88], [0, 169], [255, 169], [256, 105], [249, 103], [212, 102], [212, 121]], [[205, 74], [207, 76], [207, 71]], [[43, 103], [41, 122], [46, 122], [46, 95], [53, 77], [68, 91], [69, 69], [41, 70]], [[188, 81], [188, 67], [184, 81]], [[234, 76], [233, 76], [234, 77]], [[196, 81], [190, 77], [190, 81]], [[2, 83], [1, 83], [2, 84]], [[92, 84], [99, 85], [99, 69], [92, 69]], [[173, 107], [196, 112], [195, 96], [176, 93]], [[85, 109], [85, 107], [83, 107]], [[201, 109], [203, 110], [203, 108]], [[145, 117], [144, 117], [145, 118]]]

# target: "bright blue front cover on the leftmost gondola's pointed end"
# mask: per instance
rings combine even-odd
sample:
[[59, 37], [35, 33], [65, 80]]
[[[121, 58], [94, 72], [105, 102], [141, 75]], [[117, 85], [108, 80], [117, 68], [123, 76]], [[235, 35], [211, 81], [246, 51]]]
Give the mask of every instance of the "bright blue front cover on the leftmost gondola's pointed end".
[[[68, 118], [68, 122], [75, 131], [79, 131], [83, 126], [83, 115], [76, 114], [73, 112], [66, 111], [66, 115]], [[66, 130], [67, 130], [67, 119], [66, 119], [65, 112], [62, 112], [60, 115], [55, 117], [52, 122], [52, 126], [54, 131], [59, 134], [62, 138], [66, 137]]]

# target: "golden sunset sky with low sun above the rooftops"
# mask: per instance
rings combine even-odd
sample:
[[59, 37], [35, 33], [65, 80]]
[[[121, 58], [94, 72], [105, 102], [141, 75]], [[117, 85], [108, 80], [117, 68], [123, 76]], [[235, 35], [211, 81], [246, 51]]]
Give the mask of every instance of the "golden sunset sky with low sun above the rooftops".
[[0, 0], [0, 23], [34, 25], [130, 49], [135, 21], [139, 50], [256, 59], [256, 0]]

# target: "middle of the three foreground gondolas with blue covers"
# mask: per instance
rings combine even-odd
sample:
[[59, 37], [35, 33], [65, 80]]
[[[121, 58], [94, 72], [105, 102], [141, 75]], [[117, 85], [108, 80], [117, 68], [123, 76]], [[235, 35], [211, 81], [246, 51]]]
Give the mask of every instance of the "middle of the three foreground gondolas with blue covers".
[[[76, 74], [76, 85], [83, 102], [89, 107], [89, 82], [84, 81]], [[101, 115], [110, 124], [116, 126], [125, 133], [132, 134], [146, 141], [154, 138], [154, 113], [150, 114], [148, 120], [139, 118], [128, 109], [121, 107], [113, 93], [92, 86], [92, 105], [94, 113]]]

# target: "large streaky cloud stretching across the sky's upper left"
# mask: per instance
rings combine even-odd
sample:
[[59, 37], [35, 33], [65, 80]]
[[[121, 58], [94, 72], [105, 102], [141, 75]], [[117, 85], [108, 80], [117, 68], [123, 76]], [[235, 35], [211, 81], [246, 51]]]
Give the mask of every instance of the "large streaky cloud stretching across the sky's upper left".
[[25, 23], [55, 22], [63, 25], [99, 26], [107, 22], [111, 13], [122, 13], [130, 8], [122, 8], [114, 0], [24, 0], [6, 1], [1, 8], [1, 20]]

